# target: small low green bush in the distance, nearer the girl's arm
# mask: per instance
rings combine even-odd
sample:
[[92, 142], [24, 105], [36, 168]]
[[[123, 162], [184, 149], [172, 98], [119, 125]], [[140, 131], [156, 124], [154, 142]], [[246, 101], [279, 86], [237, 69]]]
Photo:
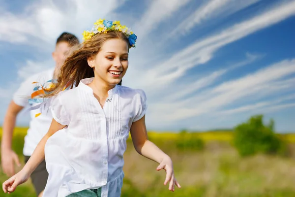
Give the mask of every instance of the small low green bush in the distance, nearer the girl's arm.
[[203, 150], [205, 147], [204, 140], [193, 136], [186, 130], [182, 130], [179, 133], [179, 137], [176, 140], [176, 146], [178, 150]]

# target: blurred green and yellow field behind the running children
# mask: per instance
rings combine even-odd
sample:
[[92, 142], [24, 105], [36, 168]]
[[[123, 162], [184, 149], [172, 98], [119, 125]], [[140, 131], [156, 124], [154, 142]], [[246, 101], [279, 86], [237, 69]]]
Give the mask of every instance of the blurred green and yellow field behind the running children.
[[[1, 133], [1, 129], [0, 129]], [[13, 147], [22, 157], [26, 128], [15, 132]], [[204, 150], [179, 149], [179, 134], [149, 132], [150, 140], [168, 153], [182, 189], [174, 193], [163, 185], [164, 171], [157, 164], [134, 151], [127, 141], [125, 178], [122, 197], [295, 197], [295, 134], [280, 135], [289, 143], [289, 157], [255, 155], [241, 158], [231, 146], [231, 131], [208, 131], [184, 136], [183, 140], [201, 138]], [[7, 177], [1, 172], [0, 181]], [[35, 197], [28, 182], [10, 195], [0, 197]]]

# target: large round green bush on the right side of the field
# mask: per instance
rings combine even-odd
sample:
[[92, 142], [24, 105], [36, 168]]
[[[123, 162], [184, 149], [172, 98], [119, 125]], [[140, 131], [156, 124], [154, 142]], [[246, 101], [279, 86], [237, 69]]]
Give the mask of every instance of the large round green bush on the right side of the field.
[[285, 153], [285, 143], [273, 131], [274, 121], [264, 125], [263, 115], [251, 117], [248, 122], [236, 126], [234, 131], [234, 146], [241, 156], [256, 153]]

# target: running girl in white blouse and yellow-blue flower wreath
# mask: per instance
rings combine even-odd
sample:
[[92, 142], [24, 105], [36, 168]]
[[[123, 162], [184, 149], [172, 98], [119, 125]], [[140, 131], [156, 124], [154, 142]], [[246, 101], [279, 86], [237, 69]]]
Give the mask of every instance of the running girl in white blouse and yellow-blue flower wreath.
[[[118, 21], [98, 20], [84, 39], [43, 96], [57, 95], [48, 133], [23, 169], [3, 183], [3, 191], [15, 191], [45, 157], [49, 177], [43, 197], [119, 197], [129, 131], [136, 151], [166, 170], [164, 185], [180, 188], [170, 157], [148, 141], [144, 91], [117, 85], [136, 35]], [[67, 84], [77, 87], [62, 92]]]

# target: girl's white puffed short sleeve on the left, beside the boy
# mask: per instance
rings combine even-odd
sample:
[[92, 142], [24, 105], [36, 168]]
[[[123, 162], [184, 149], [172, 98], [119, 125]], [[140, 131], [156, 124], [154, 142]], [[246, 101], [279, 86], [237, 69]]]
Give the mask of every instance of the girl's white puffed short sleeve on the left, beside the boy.
[[52, 117], [60, 125], [69, 125], [70, 118], [66, 112], [64, 105], [61, 103], [60, 95], [56, 96], [51, 102], [51, 113]]

